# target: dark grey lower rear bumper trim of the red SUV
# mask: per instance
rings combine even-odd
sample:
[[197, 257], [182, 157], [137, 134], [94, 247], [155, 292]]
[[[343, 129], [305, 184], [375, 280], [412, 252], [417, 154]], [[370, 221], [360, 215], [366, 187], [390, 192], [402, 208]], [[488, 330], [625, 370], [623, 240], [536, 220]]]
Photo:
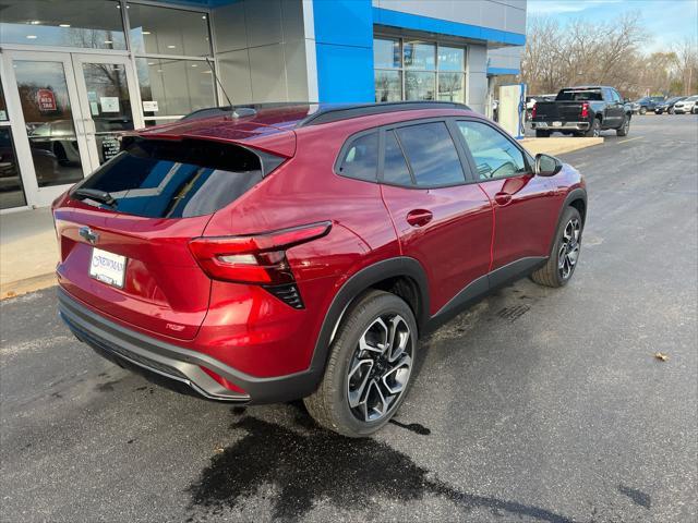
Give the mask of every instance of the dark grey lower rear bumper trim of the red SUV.
[[[118, 325], [87, 308], [59, 288], [58, 309], [75, 337], [97, 353], [123, 366], [137, 367], [184, 385], [197, 394], [218, 401], [241, 403], [274, 403], [310, 394], [317, 376], [302, 372], [286, 376], [258, 378], [237, 370], [218, 360]], [[230, 390], [202, 367], [234, 384], [244, 392]]]

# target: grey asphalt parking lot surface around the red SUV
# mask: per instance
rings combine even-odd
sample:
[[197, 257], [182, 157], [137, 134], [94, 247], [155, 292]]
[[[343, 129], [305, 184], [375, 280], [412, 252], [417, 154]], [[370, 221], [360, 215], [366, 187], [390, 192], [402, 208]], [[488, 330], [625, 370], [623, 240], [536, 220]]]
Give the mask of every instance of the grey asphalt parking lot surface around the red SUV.
[[698, 117], [603, 134], [563, 157], [590, 195], [570, 284], [424, 340], [373, 439], [157, 388], [76, 342], [53, 289], [1, 302], [0, 520], [696, 521]]

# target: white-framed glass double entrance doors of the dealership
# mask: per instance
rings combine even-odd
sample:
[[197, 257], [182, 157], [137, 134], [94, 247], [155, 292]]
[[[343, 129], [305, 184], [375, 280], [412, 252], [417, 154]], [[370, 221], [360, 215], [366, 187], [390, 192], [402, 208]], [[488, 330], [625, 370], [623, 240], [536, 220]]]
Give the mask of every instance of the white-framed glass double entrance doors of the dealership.
[[118, 133], [143, 126], [125, 56], [9, 51], [2, 60], [8, 105], [20, 108], [12, 131], [28, 205], [49, 205], [118, 153]]

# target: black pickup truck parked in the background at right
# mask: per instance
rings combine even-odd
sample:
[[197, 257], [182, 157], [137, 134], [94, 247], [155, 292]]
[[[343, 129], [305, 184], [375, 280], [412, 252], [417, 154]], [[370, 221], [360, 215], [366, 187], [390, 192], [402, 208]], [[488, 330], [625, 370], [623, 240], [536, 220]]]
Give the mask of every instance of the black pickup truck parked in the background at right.
[[614, 129], [618, 136], [630, 130], [633, 110], [613, 87], [567, 87], [553, 101], [539, 101], [531, 111], [535, 136], [544, 138], [561, 132], [576, 136], [599, 136]]

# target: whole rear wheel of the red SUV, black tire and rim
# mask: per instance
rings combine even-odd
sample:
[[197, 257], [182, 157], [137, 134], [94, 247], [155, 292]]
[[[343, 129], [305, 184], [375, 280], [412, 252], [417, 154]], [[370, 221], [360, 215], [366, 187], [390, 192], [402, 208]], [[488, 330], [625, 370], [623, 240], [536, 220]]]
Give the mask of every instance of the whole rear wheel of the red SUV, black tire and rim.
[[364, 294], [339, 325], [317, 390], [303, 399], [310, 415], [350, 438], [380, 430], [407, 396], [417, 339], [417, 320], [404, 300], [383, 291]]

